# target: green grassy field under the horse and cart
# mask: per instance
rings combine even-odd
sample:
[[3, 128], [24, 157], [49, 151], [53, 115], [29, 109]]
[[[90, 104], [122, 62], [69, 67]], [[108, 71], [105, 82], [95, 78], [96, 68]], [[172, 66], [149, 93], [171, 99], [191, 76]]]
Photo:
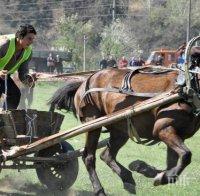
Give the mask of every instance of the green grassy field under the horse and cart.
[[[48, 110], [46, 105], [47, 100], [61, 83], [38, 83], [34, 92], [34, 103], [32, 108], [38, 110]], [[79, 125], [71, 113], [65, 114], [65, 120], [62, 125], [62, 130]], [[101, 138], [108, 137], [102, 134]], [[84, 145], [85, 135], [81, 135], [68, 140], [75, 149], [81, 148]], [[184, 170], [179, 181], [176, 184], [166, 186], [153, 186], [153, 179], [146, 178], [140, 174], [133, 173], [137, 184], [137, 195], [140, 196], [188, 196], [199, 195], [200, 193], [200, 134], [197, 133], [193, 138], [187, 140], [186, 144], [193, 153], [192, 163]], [[122, 186], [120, 179], [108, 168], [99, 158], [97, 152], [97, 172], [102, 185], [108, 195], [126, 196], [127, 193]], [[124, 166], [128, 166], [133, 160], [143, 160], [157, 168], [165, 168], [166, 147], [164, 144], [146, 147], [135, 144], [132, 141], [121, 149], [118, 155], [118, 161]], [[0, 195], [72, 195], [72, 196], [90, 196], [93, 195], [92, 187], [86, 169], [79, 159], [79, 175], [68, 192], [48, 192], [38, 181], [34, 170], [23, 170], [20, 173], [14, 170], [2, 170], [0, 179]]]

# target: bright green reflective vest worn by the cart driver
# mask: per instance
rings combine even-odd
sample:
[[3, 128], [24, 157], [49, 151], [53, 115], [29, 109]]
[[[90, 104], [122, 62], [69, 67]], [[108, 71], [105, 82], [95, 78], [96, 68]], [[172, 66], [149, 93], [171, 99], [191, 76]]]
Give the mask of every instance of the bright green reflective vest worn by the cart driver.
[[[8, 62], [10, 61], [10, 59], [13, 57], [14, 53], [15, 53], [15, 35], [14, 34], [10, 34], [10, 35], [2, 35], [0, 36], [0, 39], [9, 39], [9, 46], [7, 49], [7, 52], [5, 54], [4, 57], [0, 58], [0, 70], [3, 70], [4, 67], [8, 64]], [[17, 71], [20, 67], [20, 65], [25, 62], [26, 60], [28, 60], [28, 58], [30, 57], [32, 52], [32, 48], [31, 46], [29, 46], [28, 48], [26, 48], [23, 52], [22, 57], [17, 60], [17, 62], [15, 62], [15, 64], [13, 65], [13, 67], [8, 70], [9, 74], [13, 74], [15, 71]]]

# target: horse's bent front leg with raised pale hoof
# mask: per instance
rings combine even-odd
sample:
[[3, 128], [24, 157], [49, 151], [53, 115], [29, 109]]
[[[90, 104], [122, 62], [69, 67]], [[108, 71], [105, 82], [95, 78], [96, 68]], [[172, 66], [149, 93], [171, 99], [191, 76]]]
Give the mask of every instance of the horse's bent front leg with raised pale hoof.
[[168, 157], [168, 168], [166, 171], [159, 173], [155, 177], [155, 186], [175, 183], [184, 168], [190, 164], [192, 157], [192, 153], [184, 144], [183, 140], [176, 134], [176, 130], [172, 126], [162, 129], [159, 132], [159, 138], [168, 146], [168, 148], [172, 149], [172, 152], [174, 151], [177, 153], [179, 161], [177, 162], [177, 159], [175, 158], [175, 161], [171, 162]]

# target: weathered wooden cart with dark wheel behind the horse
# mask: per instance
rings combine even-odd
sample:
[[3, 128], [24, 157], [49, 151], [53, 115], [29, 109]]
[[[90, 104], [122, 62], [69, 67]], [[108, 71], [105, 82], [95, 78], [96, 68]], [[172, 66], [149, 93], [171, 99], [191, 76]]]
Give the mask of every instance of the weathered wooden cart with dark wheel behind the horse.
[[[58, 133], [64, 116], [56, 112], [37, 110], [12, 110], [0, 113], [2, 151], [12, 151], [16, 146], [29, 145], [44, 137]], [[59, 142], [27, 156], [2, 162], [2, 169], [35, 169], [40, 182], [49, 189], [68, 189], [78, 175], [78, 157], [71, 160], [58, 157], [73, 152], [66, 141]]]

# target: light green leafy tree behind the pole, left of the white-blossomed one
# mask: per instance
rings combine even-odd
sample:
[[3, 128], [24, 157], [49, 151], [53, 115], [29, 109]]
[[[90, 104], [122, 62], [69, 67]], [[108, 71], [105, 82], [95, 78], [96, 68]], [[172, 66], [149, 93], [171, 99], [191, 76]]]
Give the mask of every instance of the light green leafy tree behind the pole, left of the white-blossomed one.
[[[57, 38], [53, 45], [72, 53], [72, 63], [82, 70], [83, 62], [83, 37], [87, 36], [89, 42], [92, 38], [93, 25], [91, 21], [79, 21], [78, 15], [62, 17], [57, 23]], [[87, 48], [90, 50], [90, 48]]]

